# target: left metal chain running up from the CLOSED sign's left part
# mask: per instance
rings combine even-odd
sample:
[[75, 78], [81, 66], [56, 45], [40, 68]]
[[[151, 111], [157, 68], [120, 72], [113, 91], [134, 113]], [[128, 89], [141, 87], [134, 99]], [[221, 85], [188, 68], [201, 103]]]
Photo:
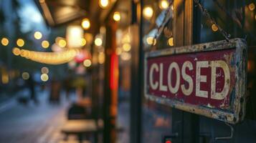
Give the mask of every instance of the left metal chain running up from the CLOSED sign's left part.
[[173, 4], [173, 2], [174, 2], [174, 0], [173, 1], [169, 0], [169, 6], [168, 6], [168, 9], [166, 9], [166, 11], [164, 13], [163, 21], [162, 21], [161, 25], [158, 26], [156, 34], [153, 36], [151, 50], [153, 50], [152, 47], [154, 46], [154, 43], [155, 43], [154, 41], [158, 38], [157, 36], [160, 35], [162, 33], [163, 29], [166, 27], [166, 17], [167, 17], [167, 14], [171, 11], [171, 5]]

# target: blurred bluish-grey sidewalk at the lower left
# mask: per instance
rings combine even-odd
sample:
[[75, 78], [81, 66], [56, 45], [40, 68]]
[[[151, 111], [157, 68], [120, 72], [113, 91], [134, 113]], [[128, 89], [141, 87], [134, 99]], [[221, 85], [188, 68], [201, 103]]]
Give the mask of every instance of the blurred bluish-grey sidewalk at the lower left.
[[[70, 137], [63, 142], [60, 129], [66, 121], [68, 102], [62, 98], [60, 105], [47, 103], [47, 92], [39, 92], [38, 105], [18, 104], [16, 99], [6, 103], [0, 112], [0, 142], [8, 143], [72, 143], [77, 142]], [[1, 106], [2, 107], [2, 106]]]

